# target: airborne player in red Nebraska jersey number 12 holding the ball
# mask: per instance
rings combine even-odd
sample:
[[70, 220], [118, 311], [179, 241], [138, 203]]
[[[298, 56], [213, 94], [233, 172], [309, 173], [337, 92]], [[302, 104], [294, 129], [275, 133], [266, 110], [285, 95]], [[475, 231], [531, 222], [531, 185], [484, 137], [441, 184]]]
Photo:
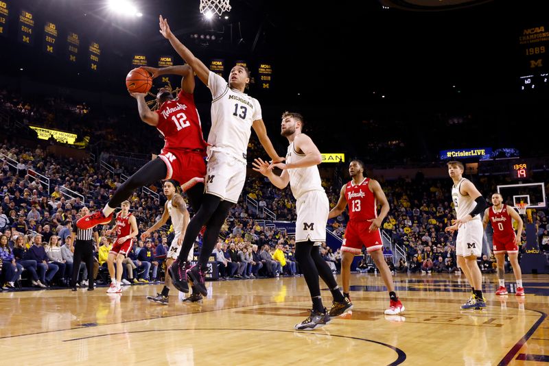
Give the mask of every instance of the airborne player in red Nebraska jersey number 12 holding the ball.
[[165, 74], [183, 76], [181, 90], [176, 97], [166, 88], [159, 90], [156, 94], [159, 109], [154, 112], [145, 101], [145, 93], [130, 93], [137, 99], [141, 121], [161, 132], [165, 141], [164, 147], [156, 159], [145, 164], [117, 188], [103, 210], [77, 221], [76, 225], [82, 230], [109, 223], [115, 208], [124, 199], [128, 199], [136, 188], [149, 186], [158, 180], [172, 179], [182, 184], [193, 209], [198, 210], [200, 206], [206, 175], [206, 142], [194, 103], [193, 70], [187, 65], [162, 69], [144, 66], [143, 69], [152, 73], [153, 78]]

